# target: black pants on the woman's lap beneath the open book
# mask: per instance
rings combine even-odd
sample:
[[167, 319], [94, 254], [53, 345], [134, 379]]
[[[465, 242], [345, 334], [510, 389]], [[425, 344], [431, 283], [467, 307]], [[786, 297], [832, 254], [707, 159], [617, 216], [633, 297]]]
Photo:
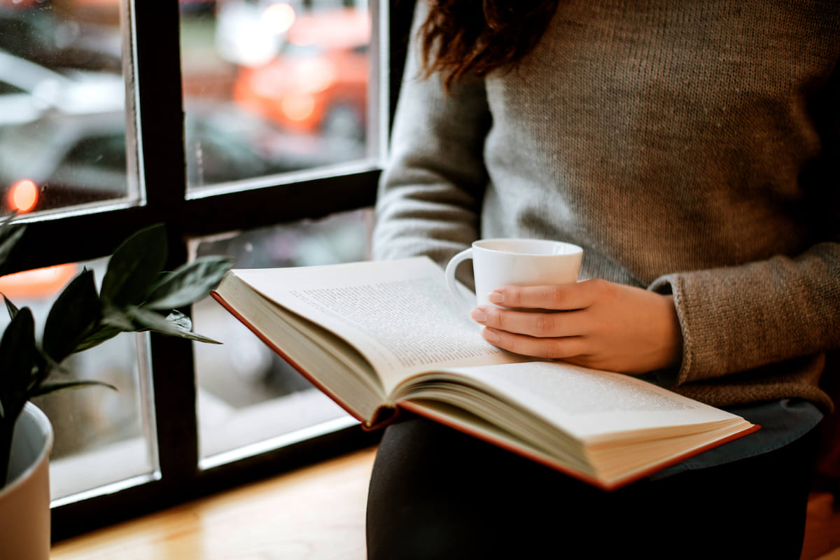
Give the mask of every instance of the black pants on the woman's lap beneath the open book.
[[422, 418], [386, 429], [368, 557], [798, 559], [819, 429], [771, 453], [604, 492]]

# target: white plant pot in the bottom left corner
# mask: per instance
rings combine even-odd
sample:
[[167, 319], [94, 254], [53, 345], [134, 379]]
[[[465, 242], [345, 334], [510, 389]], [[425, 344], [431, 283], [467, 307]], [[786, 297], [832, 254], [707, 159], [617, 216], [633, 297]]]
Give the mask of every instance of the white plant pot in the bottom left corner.
[[0, 558], [50, 558], [50, 451], [47, 416], [26, 403], [12, 438], [8, 482], [0, 488]]

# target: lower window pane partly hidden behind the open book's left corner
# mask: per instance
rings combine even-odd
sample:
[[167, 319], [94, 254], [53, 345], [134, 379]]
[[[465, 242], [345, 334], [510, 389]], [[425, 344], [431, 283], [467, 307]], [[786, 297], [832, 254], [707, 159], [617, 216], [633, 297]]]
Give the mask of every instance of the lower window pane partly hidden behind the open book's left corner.
[[[371, 222], [370, 211], [350, 212], [204, 239], [196, 253], [232, 255], [236, 268], [364, 260]], [[203, 466], [354, 423], [216, 301], [193, 306], [193, 322], [196, 332], [222, 343], [195, 345]]]

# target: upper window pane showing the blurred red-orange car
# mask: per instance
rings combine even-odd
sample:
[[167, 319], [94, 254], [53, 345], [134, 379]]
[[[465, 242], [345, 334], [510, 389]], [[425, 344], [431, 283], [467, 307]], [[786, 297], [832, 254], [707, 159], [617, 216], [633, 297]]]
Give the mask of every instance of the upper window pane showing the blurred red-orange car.
[[366, 0], [181, 0], [187, 185], [371, 153]]

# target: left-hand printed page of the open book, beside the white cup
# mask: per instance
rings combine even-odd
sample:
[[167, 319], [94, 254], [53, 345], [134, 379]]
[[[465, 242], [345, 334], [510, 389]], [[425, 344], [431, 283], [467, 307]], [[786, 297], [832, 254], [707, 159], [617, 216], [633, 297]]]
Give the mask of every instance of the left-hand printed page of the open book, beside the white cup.
[[237, 270], [255, 290], [344, 338], [370, 361], [387, 392], [428, 369], [522, 358], [480, 337], [430, 259], [279, 270]]

